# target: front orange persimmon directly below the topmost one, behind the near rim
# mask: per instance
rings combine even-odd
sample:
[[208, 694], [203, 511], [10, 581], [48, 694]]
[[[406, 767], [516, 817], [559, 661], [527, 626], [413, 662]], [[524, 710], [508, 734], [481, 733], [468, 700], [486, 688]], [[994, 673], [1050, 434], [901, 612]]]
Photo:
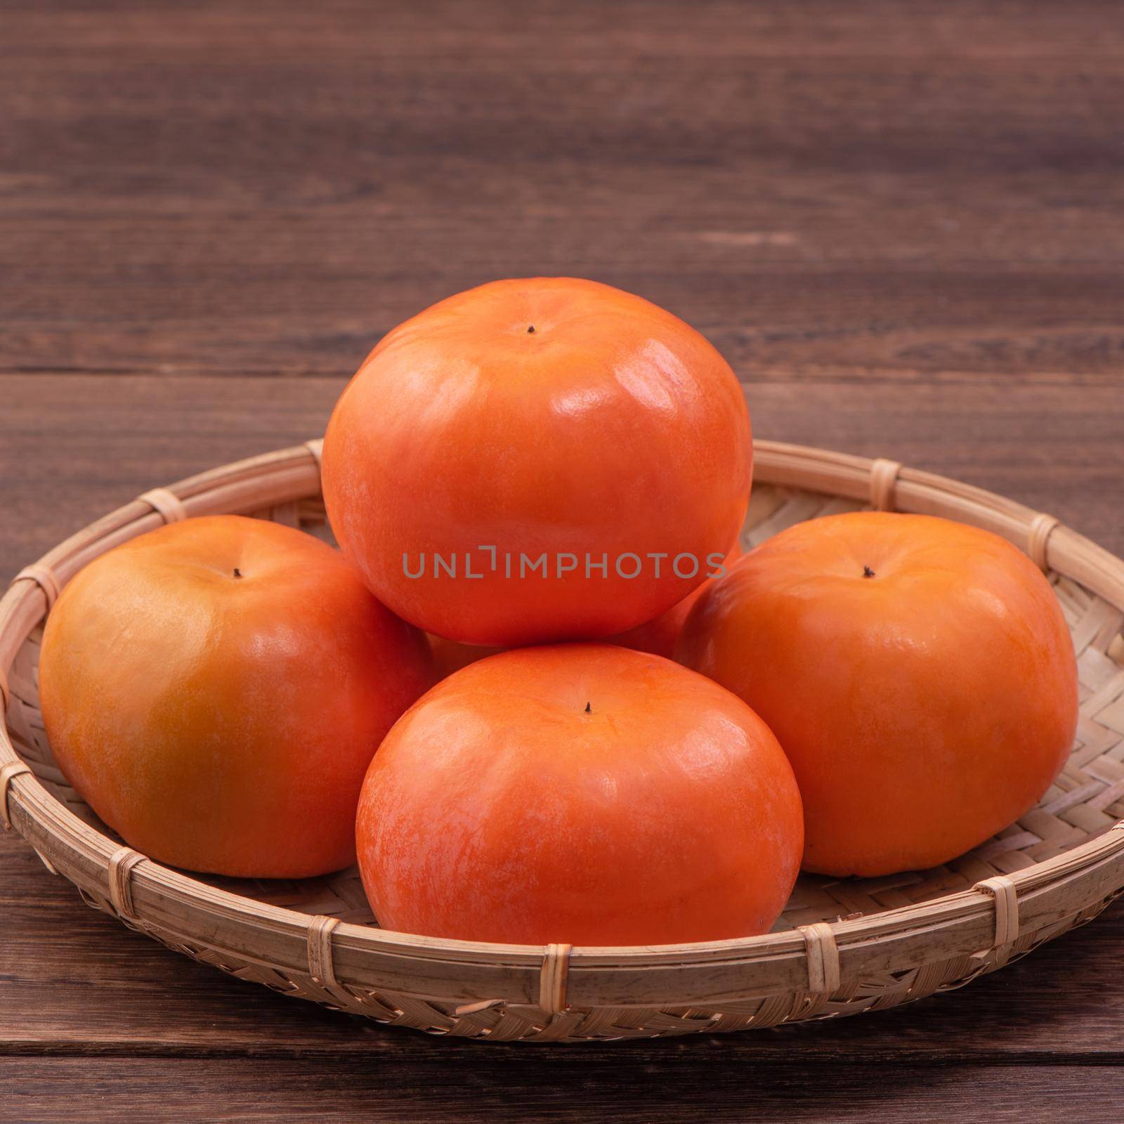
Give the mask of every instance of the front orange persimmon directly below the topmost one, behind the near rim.
[[765, 932], [803, 819], [741, 699], [660, 656], [546, 645], [473, 663], [407, 711], [371, 762], [356, 839], [384, 928], [665, 944]]

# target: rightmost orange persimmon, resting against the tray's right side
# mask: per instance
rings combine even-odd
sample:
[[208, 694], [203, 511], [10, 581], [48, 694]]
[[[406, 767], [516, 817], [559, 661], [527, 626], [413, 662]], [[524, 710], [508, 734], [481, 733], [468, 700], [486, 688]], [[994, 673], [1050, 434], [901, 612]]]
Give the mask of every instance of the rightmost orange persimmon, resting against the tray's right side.
[[1050, 583], [946, 519], [797, 524], [707, 588], [677, 651], [777, 734], [821, 873], [934, 867], [982, 843], [1034, 807], [1077, 726]]

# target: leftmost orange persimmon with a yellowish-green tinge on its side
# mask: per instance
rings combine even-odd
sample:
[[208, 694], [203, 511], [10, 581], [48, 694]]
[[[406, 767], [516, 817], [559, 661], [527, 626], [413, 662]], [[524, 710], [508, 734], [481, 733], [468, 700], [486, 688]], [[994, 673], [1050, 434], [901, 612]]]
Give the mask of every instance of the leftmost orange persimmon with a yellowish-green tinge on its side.
[[363, 774], [430, 681], [424, 638], [337, 551], [241, 516], [91, 562], [39, 660], [55, 760], [94, 812], [152, 859], [251, 878], [354, 860]]

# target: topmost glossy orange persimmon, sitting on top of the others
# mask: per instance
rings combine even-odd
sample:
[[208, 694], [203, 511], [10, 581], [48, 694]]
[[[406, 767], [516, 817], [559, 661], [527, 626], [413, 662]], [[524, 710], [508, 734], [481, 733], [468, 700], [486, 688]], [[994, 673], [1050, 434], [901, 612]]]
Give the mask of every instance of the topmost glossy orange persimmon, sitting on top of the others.
[[[515, 646], [608, 636], [687, 596], [741, 528], [751, 460], [741, 388], [699, 333], [609, 285], [533, 278], [450, 297], [379, 343], [328, 424], [324, 496], [396, 613]], [[435, 553], [457, 578], [435, 573]], [[697, 572], [676, 575], [681, 553]], [[587, 554], [607, 555], [606, 575], [587, 574]], [[665, 558], [626, 578], [625, 554]], [[523, 555], [551, 575], [517, 577]], [[563, 555], [579, 562], [560, 575]]]

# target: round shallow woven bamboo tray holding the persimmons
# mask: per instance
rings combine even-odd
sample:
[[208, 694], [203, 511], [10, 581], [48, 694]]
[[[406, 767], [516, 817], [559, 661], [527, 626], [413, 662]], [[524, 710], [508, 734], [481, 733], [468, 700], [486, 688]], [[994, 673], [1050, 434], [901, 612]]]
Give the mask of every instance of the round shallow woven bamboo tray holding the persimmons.
[[[379, 1022], [579, 1042], [880, 1010], [960, 987], [1095, 917], [1124, 888], [1124, 562], [1052, 517], [889, 461], [759, 442], [743, 533], [862, 507], [997, 532], [1048, 572], [1078, 654], [1081, 717], [1033, 812], [935, 870], [801, 877], [774, 932], [653, 948], [434, 940], [374, 927], [355, 870], [235, 882], [124, 846], [60, 773], [36, 690], [42, 622], [91, 559], [165, 520], [244, 513], [328, 536], [319, 442], [154, 489], [22, 570], [0, 600], [0, 814], [85, 901], [239, 979]], [[123, 964], [123, 971], [126, 971]]]

